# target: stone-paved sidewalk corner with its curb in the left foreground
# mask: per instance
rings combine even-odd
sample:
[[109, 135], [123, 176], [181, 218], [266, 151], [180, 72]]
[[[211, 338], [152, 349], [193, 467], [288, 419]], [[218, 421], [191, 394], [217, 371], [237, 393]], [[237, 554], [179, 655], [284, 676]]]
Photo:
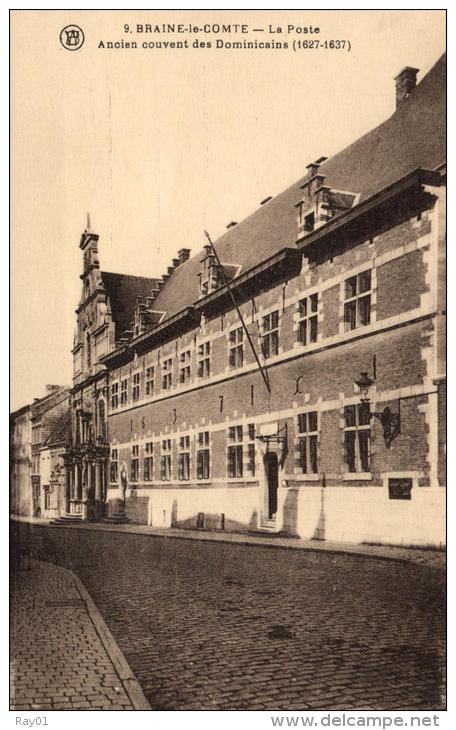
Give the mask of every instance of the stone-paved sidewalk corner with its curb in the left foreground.
[[30, 560], [11, 572], [11, 710], [150, 710], [82, 582]]

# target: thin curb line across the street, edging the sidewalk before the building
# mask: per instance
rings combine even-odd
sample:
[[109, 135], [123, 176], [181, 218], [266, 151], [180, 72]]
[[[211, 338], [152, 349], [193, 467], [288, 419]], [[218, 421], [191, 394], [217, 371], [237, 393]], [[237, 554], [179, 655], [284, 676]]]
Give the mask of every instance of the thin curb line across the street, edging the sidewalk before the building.
[[[115, 525], [105, 525], [103, 527], [95, 527], [94, 525], [91, 527], [88, 527], [84, 524], [78, 524], [78, 525], [49, 525], [46, 523], [29, 523], [31, 525], [36, 524], [37, 527], [45, 527], [45, 528], [51, 528], [51, 529], [64, 529], [64, 530], [85, 530], [86, 532], [116, 532], [121, 535], [136, 535], [136, 536], [144, 536], [144, 537], [155, 537], [155, 538], [163, 538], [166, 540], [193, 540], [195, 542], [217, 542], [224, 545], [240, 545], [243, 547], [265, 547], [268, 549], [276, 549], [276, 550], [293, 550], [298, 551], [301, 550], [305, 553], [312, 553], [313, 555], [344, 555], [348, 557], [353, 558], [361, 558], [366, 560], [381, 560], [381, 561], [389, 561], [393, 563], [399, 563], [402, 565], [415, 565], [419, 567], [425, 567], [430, 568], [432, 570], [445, 570], [446, 569], [446, 563], [440, 565], [429, 565], [426, 562], [421, 562], [413, 557], [407, 557], [407, 556], [398, 556], [398, 555], [385, 555], [385, 554], [379, 554], [379, 553], [365, 553], [365, 552], [356, 552], [355, 550], [347, 550], [344, 549], [342, 546], [340, 548], [337, 547], [331, 547], [331, 548], [319, 548], [319, 547], [312, 547], [307, 545], [297, 545], [290, 542], [289, 544], [277, 544], [273, 542], [264, 541], [258, 541], [258, 542], [250, 542], [248, 540], [242, 540], [242, 539], [236, 539], [232, 540], [229, 539], [226, 536], [214, 536], [214, 535], [193, 535], [193, 534], [185, 534], [184, 532], [181, 535], [177, 535], [175, 533], [173, 534], [166, 534], [165, 532], [143, 532], [142, 530], [135, 531], [134, 529], [129, 530], [122, 530], [118, 529]], [[131, 527], [134, 527], [133, 525]], [[406, 548], [405, 548], [406, 549]], [[413, 548], [410, 548], [413, 549]]]

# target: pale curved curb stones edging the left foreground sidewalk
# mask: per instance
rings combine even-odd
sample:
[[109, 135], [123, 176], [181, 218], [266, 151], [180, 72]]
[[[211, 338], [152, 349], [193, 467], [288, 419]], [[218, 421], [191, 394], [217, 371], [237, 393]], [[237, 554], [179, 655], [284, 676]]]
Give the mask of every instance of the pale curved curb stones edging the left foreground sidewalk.
[[55, 563], [49, 563], [44, 560], [39, 560], [37, 562], [46, 563], [48, 565], [52, 565], [58, 568], [59, 570], [63, 570], [65, 571], [65, 573], [68, 573], [68, 575], [73, 579], [79, 595], [85, 601], [89, 618], [95, 627], [95, 631], [97, 632], [111, 663], [113, 664], [117, 674], [119, 675], [120, 681], [122, 682], [127, 697], [133, 705], [133, 709], [152, 710], [152, 707], [150, 706], [148, 700], [144, 695], [141, 685], [139, 684], [130, 665], [128, 664], [127, 660], [119, 649], [119, 646], [114, 636], [108, 629], [103, 617], [101, 616], [98, 608], [96, 607], [82, 580], [75, 573], [73, 573], [73, 571], [68, 570], [68, 568], [63, 568], [61, 565], [55, 565]]

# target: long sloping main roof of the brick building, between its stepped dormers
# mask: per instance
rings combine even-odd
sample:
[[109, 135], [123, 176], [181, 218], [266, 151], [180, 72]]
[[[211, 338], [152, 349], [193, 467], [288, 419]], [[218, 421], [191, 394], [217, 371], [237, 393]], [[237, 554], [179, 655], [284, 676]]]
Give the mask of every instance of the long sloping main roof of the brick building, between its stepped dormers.
[[[439, 166], [446, 156], [445, 105], [444, 55], [389, 119], [321, 165], [318, 172], [326, 175], [325, 185], [358, 193], [361, 201], [417, 167]], [[242, 264], [240, 271], [245, 271], [285, 246], [294, 247], [294, 206], [302, 198], [303, 181], [221, 236], [215, 243], [220, 259]], [[154, 308], [165, 311], [166, 318], [198, 299], [200, 260], [198, 253], [181, 264], [158, 295]]]

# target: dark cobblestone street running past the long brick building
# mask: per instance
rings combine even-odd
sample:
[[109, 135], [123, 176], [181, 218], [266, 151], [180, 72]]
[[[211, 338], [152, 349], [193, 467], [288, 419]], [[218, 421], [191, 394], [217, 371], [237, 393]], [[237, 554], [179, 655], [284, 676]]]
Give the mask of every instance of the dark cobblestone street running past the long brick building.
[[153, 709], [444, 707], [437, 567], [90, 529], [32, 536], [36, 556], [83, 580]]

